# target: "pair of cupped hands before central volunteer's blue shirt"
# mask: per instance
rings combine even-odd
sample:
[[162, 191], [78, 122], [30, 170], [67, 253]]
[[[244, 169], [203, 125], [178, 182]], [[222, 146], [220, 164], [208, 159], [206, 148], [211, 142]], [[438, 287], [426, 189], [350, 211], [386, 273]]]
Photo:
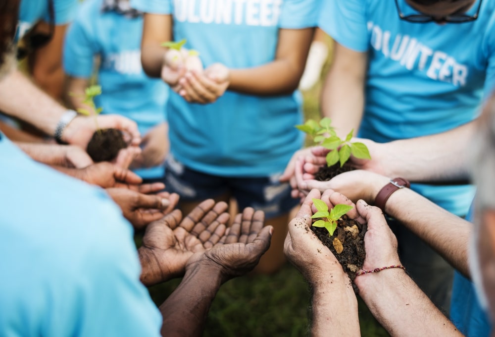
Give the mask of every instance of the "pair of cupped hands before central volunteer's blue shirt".
[[170, 88], [191, 103], [213, 103], [230, 84], [230, 71], [222, 63], [213, 63], [203, 69], [197, 55], [188, 56], [168, 49], [163, 57], [161, 78]]

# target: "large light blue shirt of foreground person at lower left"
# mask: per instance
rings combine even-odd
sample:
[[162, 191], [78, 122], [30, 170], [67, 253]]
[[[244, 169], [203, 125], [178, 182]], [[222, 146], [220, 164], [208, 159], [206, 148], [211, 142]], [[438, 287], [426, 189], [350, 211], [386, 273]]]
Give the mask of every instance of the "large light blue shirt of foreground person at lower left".
[[0, 133], [1, 336], [160, 336], [133, 229], [103, 189]]

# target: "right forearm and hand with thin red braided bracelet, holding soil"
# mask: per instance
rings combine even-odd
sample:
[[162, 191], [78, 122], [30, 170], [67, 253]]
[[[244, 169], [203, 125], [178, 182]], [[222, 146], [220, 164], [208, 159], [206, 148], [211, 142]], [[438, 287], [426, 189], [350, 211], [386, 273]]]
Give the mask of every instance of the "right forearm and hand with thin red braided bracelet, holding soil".
[[[396, 237], [381, 210], [362, 200], [356, 206], [368, 224], [363, 270], [400, 265]], [[373, 316], [391, 336], [462, 336], [402, 269], [363, 274], [354, 283]]]

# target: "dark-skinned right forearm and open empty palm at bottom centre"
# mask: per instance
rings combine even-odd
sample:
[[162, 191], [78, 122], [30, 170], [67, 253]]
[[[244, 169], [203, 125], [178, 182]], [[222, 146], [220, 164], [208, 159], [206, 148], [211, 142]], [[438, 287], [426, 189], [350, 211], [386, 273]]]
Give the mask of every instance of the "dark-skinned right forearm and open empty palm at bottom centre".
[[224, 282], [252, 270], [270, 246], [273, 227], [263, 227], [264, 214], [246, 208], [228, 235], [187, 262], [177, 289], [160, 306], [163, 336], [201, 336], [206, 315]]

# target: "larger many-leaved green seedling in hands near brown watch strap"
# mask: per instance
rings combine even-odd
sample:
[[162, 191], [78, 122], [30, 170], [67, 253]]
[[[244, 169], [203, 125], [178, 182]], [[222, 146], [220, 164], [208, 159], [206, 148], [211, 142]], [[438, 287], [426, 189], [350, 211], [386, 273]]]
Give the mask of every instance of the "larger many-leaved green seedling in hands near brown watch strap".
[[332, 166], [340, 162], [342, 167], [352, 154], [359, 159], [371, 159], [370, 153], [366, 145], [360, 142], [350, 142], [354, 130], [350, 130], [346, 139], [342, 140], [331, 126], [332, 120], [324, 117], [320, 122], [313, 119], [308, 119], [304, 124], [296, 125], [297, 129], [305, 132], [313, 138], [315, 144], [319, 144], [330, 151], [327, 154], [327, 165]]

